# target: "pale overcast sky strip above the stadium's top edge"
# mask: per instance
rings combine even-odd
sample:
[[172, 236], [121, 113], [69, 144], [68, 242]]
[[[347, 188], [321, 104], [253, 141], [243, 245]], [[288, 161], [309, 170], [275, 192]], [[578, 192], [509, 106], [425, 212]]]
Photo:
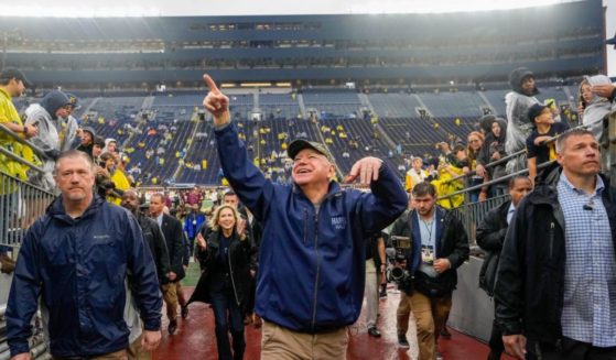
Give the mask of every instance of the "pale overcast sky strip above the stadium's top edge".
[[[523, 8], [566, 0], [0, 0], [0, 15], [109, 17], [109, 15], [257, 15], [442, 12]], [[127, 3], [129, 3], [127, 6]], [[616, 33], [616, 0], [603, 0], [607, 7], [606, 31]], [[607, 50], [608, 75], [616, 77], [616, 50]]]

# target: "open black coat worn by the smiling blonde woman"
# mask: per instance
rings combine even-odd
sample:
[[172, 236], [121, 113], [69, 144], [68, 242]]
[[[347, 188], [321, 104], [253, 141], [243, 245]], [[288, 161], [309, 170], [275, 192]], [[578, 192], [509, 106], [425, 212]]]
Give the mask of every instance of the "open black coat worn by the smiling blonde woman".
[[[220, 272], [217, 271], [220, 266], [217, 260], [220, 249], [219, 237], [219, 231], [212, 231], [207, 238], [207, 249], [202, 251], [201, 248], [197, 247], [197, 257], [203, 265], [203, 271], [188, 304], [193, 302], [209, 303], [209, 294], [223, 290], [225, 280], [218, 276]], [[251, 310], [247, 308], [247, 303], [250, 296], [250, 285], [252, 281], [250, 269], [252, 266], [251, 259], [255, 250], [255, 247], [248, 238], [240, 241], [237, 233], [234, 232], [229, 244], [227, 261], [229, 262], [229, 275], [235, 301], [244, 310]]]

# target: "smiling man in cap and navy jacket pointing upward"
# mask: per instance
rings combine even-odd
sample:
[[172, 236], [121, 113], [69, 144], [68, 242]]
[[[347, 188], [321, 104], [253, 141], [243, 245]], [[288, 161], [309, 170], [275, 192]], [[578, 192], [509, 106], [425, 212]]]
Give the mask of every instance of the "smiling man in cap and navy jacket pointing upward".
[[267, 181], [230, 123], [228, 98], [204, 79], [225, 176], [263, 226], [256, 301], [266, 320], [261, 359], [346, 359], [347, 326], [363, 303], [365, 239], [407, 208], [400, 181], [381, 160], [365, 157], [347, 179], [359, 177], [371, 192], [343, 190], [332, 181], [327, 149], [303, 140], [288, 148], [293, 184]]

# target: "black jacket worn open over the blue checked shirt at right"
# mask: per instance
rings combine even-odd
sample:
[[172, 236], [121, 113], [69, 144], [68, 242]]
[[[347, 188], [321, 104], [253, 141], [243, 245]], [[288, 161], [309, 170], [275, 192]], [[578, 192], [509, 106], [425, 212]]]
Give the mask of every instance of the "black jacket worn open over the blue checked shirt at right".
[[[498, 265], [496, 320], [504, 335], [556, 343], [562, 338], [564, 216], [558, 199], [558, 164], [542, 172], [537, 187], [518, 205]], [[616, 248], [614, 192], [603, 177], [603, 204]]]

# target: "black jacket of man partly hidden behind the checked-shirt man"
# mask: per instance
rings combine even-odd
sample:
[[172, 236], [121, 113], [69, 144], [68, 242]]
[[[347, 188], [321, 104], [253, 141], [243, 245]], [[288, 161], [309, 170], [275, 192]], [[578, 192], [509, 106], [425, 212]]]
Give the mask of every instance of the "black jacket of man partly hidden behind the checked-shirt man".
[[490, 296], [494, 295], [496, 266], [498, 265], [507, 229], [509, 228], [507, 223], [509, 206], [511, 206], [511, 200], [507, 200], [491, 209], [477, 227], [477, 244], [486, 251], [486, 257], [479, 271], [479, 287], [485, 290]]

